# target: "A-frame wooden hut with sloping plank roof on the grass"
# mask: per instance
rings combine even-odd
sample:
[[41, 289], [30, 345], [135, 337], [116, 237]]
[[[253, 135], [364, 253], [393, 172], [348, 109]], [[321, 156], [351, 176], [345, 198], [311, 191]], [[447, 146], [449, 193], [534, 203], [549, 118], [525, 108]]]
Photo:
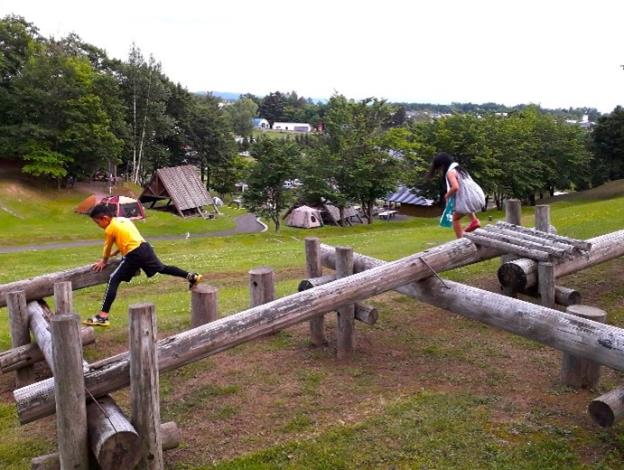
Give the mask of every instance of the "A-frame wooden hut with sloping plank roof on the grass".
[[[149, 208], [175, 208], [181, 217], [199, 215], [212, 218], [214, 213], [206, 213], [202, 209], [212, 206], [215, 213], [219, 209], [199, 178], [199, 171], [192, 165], [160, 168], [154, 172], [152, 179], [145, 186], [139, 201], [150, 203]], [[157, 204], [160, 204], [159, 206]]]

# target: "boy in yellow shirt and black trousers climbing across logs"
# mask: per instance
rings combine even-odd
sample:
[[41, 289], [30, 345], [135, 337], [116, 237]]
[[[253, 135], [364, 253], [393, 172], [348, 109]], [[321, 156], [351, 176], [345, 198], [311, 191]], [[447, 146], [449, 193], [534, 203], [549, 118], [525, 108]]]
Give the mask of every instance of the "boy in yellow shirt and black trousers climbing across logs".
[[[108, 312], [117, 296], [119, 284], [121, 281], [130, 282], [132, 277], [138, 274], [139, 269], [142, 269], [147, 277], [152, 277], [156, 273], [183, 277], [189, 282], [189, 289], [202, 280], [201, 274], [189, 273], [176, 266], [165, 266], [132, 221], [124, 217], [113, 217], [110, 207], [106, 204], [95, 206], [90, 215], [93, 221], [104, 229], [102, 258], [91, 269], [101, 271], [108, 264], [108, 258], [117, 253], [121, 253], [123, 258], [110, 275], [100, 313], [84, 321], [85, 325], [110, 325]], [[111, 255], [113, 243], [117, 246], [117, 250]]]

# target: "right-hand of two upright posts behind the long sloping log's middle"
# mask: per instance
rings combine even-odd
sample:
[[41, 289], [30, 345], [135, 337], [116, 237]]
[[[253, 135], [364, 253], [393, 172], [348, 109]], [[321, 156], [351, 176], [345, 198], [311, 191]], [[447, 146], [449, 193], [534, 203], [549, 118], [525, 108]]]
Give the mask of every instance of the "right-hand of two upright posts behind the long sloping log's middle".
[[[336, 278], [353, 274], [353, 249], [336, 247]], [[348, 361], [353, 357], [355, 345], [355, 305], [348, 304], [337, 309], [336, 354], [339, 361]]]

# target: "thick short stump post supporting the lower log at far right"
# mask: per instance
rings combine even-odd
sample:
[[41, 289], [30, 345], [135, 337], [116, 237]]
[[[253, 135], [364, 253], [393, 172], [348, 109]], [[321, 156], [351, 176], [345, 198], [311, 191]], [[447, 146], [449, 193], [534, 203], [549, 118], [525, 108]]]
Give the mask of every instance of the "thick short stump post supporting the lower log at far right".
[[[607, 312], [589, 305], [570, 305], [566, 312], [595, 322], [605, 323]], [[573, 388], [593, 388], [600, 381], [600, 364], [563, 353], [561, 361], [561, 382]]]

